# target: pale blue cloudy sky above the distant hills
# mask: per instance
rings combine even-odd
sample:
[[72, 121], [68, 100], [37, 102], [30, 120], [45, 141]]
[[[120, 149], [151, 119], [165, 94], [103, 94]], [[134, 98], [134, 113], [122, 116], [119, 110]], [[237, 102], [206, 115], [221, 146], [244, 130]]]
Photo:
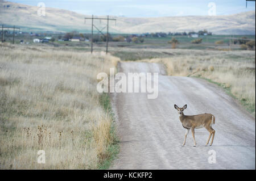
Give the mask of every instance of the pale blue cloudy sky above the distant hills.
[[159, 17], [188, 15], [229, 15], [255, 11], [255, 2], [245, 0], [7, 0], [37, 6], [75, 11], [84, 15], [111, 15], [125, 17]]

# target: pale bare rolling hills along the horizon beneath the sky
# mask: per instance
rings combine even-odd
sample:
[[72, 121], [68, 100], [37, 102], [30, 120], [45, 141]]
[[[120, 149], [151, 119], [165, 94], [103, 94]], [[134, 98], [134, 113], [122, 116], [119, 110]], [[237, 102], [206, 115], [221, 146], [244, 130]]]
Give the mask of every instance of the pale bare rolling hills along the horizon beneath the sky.
[[[0, 24], [19, 26], [22, 31], [89, 32], [90, 20], [76, 12], [46, 8], [46, 16], [37, 15], [38, 7], [0, 0]], [[219, 35], [255, 35], [255, 11], [221, 16], [168, 16], [159, 18], [117, 19], [117, 25], [110, 23], [113, 33], [183, 32], [207, 29]], [[97, 26], [104, 28], [105, 22], [97, 20]], [[106, 30], [106, 29], [105, 29]]]

